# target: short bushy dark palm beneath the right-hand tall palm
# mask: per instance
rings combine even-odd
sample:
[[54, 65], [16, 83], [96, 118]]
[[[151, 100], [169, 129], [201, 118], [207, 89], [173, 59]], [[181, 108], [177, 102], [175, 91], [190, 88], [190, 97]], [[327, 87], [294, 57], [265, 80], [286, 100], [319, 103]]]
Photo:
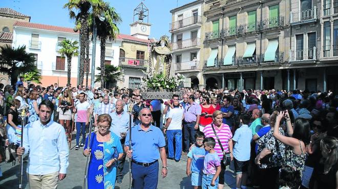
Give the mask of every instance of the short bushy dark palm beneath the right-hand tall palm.
[[95, 75], [95, 82], [101, 82], [103, 80], [104, 88], [107, 86], [108, 83], [117, 82], [117, 80], [121, 80], [119, 76], [121, 75], [120, 67], [116, 67], [113, 65], [104, 65], [105, 72], [102, 73], [101, 67], [96, 67], [96, 70], [100, 71], [98, 75]]

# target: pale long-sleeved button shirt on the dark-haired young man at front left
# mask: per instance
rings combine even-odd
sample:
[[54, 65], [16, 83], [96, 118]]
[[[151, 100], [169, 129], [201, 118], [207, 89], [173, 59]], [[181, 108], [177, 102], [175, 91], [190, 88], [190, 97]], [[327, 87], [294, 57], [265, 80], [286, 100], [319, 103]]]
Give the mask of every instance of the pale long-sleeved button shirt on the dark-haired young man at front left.
[[27, 173], [67, 173], [69, 150], [65, 129], [60, 124], [51, 120], [47, 125], [42, 125], [40, 120], [37, 120], [26, 125], [23, 147], [25, 154], [29, 151]]

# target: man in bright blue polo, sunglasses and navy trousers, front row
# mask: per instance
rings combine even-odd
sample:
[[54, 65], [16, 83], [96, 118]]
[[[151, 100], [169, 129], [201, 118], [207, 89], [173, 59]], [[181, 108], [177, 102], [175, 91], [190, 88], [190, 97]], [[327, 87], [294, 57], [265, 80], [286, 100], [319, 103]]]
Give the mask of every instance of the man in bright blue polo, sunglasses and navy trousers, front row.
[[131, 130], [132, 149], [129, 132], [126, 135], [124, 151], [132, 158], [133, 188], [156, 189], [158, 183], [158, 159], [162, 160], [162, 177], [167, 175], [165, 140], [160, 128], [151, 125], [152, 114], [143, 108], [139, 112], [140, 124]]

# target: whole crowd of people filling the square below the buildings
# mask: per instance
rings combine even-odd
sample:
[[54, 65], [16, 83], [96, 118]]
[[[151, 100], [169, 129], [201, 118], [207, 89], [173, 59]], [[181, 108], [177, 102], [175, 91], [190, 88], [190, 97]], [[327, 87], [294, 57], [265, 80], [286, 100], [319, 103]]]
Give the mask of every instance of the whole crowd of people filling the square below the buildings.
[[14, 144], [18, 156], [28, 157], [31, 188], [56, 187], [66, 177], [72, 133], [71, 149], [83, 147], [90, 157], [89, 188], [121, 183], [126, 157], [134, 188], [156, 188], [167, 159], [182, 155], [194, 188], [223, 188], [228, 168], [237, 189], [336, 188], [337, 114], [331, 91], [183, 88], [163, 100], [143, 99], [139, 89], [45, 88], [24, 86], [22, 78], [0, 84], [1, 149]]

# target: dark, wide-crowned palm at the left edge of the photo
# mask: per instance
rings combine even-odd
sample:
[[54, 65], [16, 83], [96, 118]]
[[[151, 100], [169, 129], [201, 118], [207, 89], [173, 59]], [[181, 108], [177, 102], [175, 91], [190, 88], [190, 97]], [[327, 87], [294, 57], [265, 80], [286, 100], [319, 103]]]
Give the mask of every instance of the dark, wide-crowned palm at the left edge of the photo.
[[25, 45], [0, 47], [0, 73], [7, 74], [13, 86], [19, 74], [36, 70], [35, 61], [34, 55], [26, 52]]

